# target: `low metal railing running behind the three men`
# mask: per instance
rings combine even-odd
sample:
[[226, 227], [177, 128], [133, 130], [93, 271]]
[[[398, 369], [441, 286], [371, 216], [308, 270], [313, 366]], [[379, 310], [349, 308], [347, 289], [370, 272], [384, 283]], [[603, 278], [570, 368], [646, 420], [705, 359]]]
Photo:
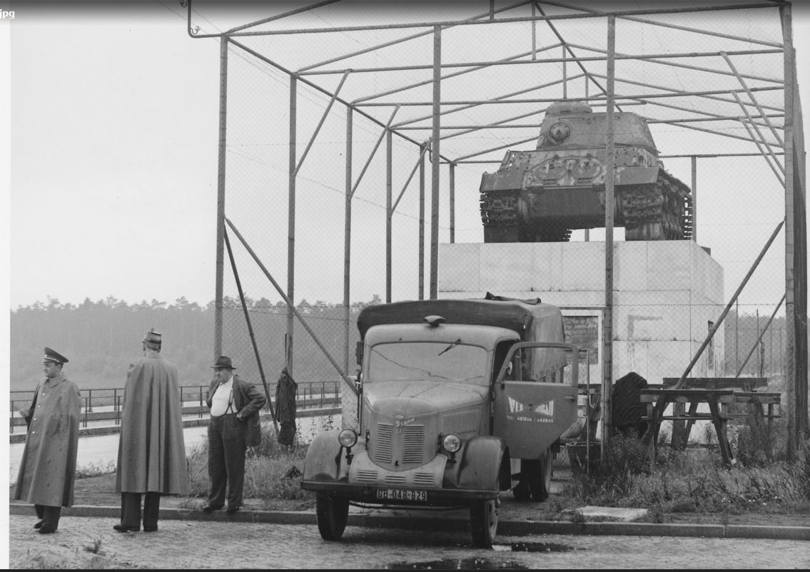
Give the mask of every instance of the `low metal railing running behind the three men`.
[[[299, 382], [296, 393], [296, 409], [322, 409], [324, 407], [339, 405], [340, 381], [311, 381]], [[263, 388], [259, 388], [264, 391]], [[87, 427], [89, 422], [112, 422], [121, 424], [121, 413], [124, 404], [123, 388], [96, 388], [80, 389], [82, 398], [81, 426]], [[207, 414], [205, 403], [208, 385], [181, 385], [180, 400], [184, 417], [196, 414], [202, 418]], [[275, 411], [275, 387], [271, 388], [271, 400]], [[34, 397], [32, 391], [12, 391], [9, 409], [9, 433], [14, 434], [15, 428], [25, 430], [25, 420], [19, 416], [20, 409], [31, 405]], [[270, 404], [266, 404], [262, 411], [269, 412]]]

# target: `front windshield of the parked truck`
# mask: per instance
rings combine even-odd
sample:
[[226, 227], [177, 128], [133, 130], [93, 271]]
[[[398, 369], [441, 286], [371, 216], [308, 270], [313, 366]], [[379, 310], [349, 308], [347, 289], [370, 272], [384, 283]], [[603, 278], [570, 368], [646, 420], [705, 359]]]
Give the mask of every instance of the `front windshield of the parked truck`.
[[377, 344], [371, 348], [365, 379], [485, 385], [487, 360], [487, 350], [460, 340]]

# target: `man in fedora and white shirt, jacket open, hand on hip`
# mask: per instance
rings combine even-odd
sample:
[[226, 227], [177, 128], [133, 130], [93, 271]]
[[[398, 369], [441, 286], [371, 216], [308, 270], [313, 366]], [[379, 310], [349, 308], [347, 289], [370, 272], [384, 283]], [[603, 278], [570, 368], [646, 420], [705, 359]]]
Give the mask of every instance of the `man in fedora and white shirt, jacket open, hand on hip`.
[[211, 409], [208, 423], [208, 478], [211, 489], [203, 512], [218, 511], [228, 498], [228, 514], [242, 505], [245, 485], [245, 451], [261, 440], [259, 410], [266, 403], [253, 383], [233, 374], [231, 358], [220, 356], [211, 366], [214, 379], [206, 404]]

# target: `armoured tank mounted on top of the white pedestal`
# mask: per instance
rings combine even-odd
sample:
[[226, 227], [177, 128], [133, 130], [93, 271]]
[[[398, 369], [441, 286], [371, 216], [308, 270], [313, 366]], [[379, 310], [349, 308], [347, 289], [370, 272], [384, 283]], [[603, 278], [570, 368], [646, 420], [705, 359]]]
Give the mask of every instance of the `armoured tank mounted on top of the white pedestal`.
[[[691, 190], [664, 170], [646, 120], [614, 112], [613, 125], [614, 226], [625, 240], [691, 239]], [[481, 178], [484, 242], [561, 242], [604, 227], [606, 133], [606, 114], [590, 105], [550, 105], [536, 149], [507, 151]]]

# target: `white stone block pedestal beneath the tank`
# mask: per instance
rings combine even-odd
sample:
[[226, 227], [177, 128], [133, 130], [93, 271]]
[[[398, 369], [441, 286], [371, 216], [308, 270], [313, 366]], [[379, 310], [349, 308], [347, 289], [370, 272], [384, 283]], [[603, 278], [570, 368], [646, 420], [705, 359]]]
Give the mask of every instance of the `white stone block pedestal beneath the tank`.
[[[569, 341], [590, 348], [590, 383], [601, 383], [605, 243], [440, 244], [438, 273], [439, 298], [491, 292], [561, 307]], [[614, 243], [613, 285], [614, 381], [680, 377], [726, 304], [722, 267], [690, 240]], [[723, 375], [722, 335], [689, 375]]]

